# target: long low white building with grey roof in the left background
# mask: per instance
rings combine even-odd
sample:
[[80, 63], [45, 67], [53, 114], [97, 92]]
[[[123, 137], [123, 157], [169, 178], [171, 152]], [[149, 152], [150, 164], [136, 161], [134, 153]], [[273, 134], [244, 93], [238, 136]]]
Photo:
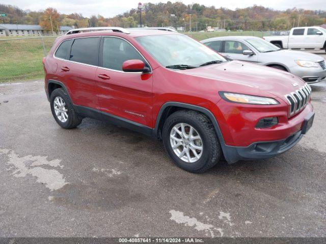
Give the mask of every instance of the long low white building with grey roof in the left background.
[[[64, 35], [67, 33], [72, 27], [70, 26], [61, 26], [59, 35]], [[0, 24], [0, 37], [9, 36], [43, 36], [50, 35], [51, 32], [43, 31], [40, 25], [34, 24]]]

